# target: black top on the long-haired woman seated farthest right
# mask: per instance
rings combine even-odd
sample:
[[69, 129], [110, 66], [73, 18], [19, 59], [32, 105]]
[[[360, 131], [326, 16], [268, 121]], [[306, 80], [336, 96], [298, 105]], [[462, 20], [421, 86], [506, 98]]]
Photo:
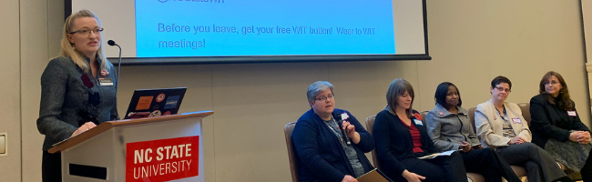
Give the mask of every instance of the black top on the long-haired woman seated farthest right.
[[[573, 103], [574, 101], [572, 101]], [[530, 99], [530, 130], [533, 133], [533, 143], [538, 147], [545, 148], [546, 141], [554, 138], [558, 141], [569, 140], [570, 130], [590, 131], [579, 119], [575, 109], [568, 111], [551, 105], [545, 96], [538, 95]]]

